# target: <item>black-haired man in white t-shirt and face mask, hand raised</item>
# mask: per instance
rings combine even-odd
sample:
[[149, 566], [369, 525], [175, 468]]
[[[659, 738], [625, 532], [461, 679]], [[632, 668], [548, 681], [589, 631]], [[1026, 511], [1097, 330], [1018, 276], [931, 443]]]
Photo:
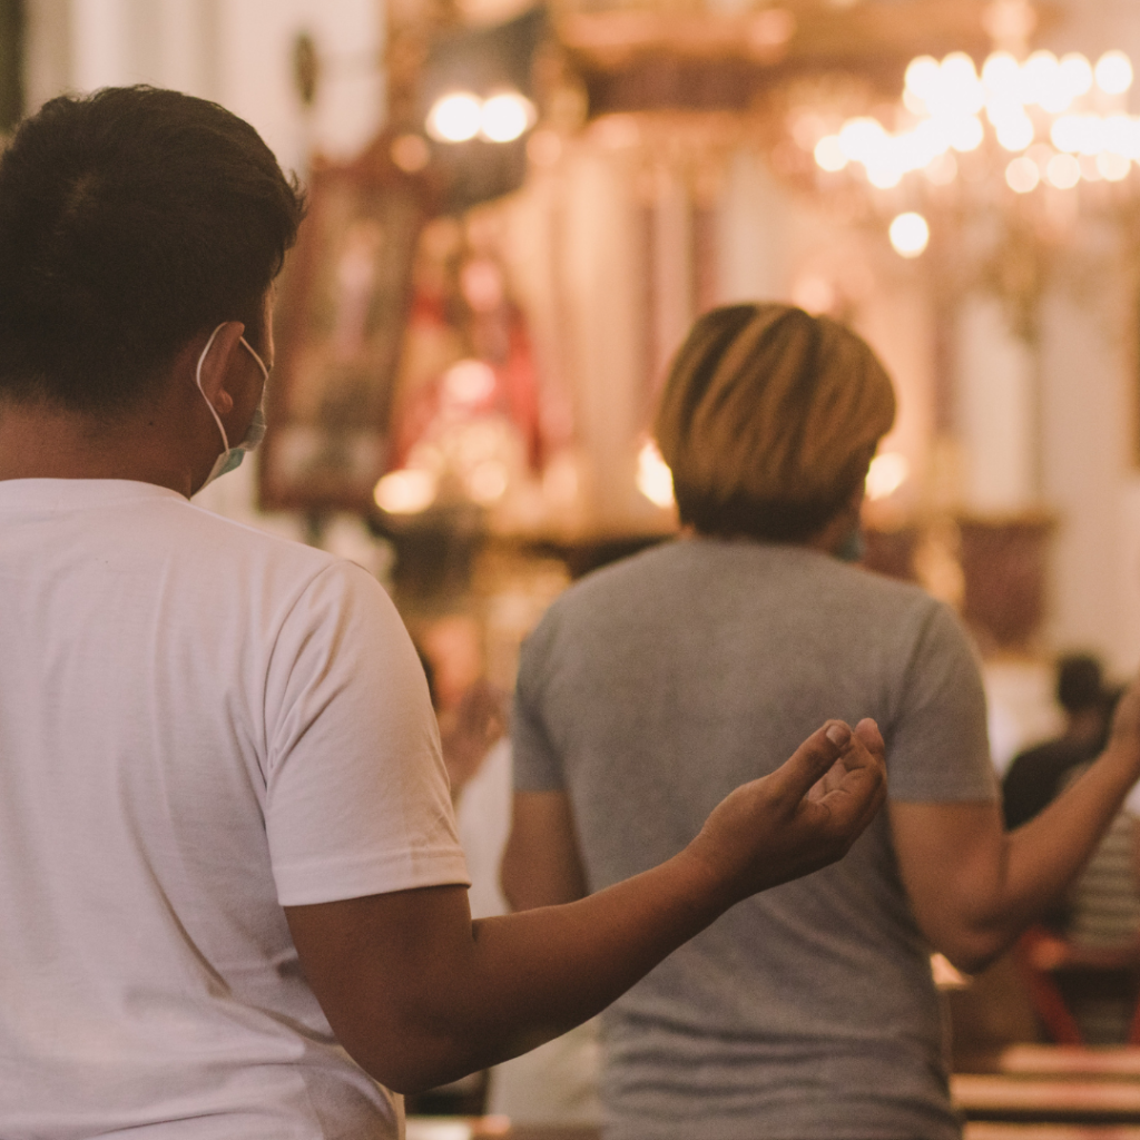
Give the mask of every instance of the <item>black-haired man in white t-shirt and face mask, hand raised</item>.
[[668, 863], [472, 922], [384, 593], [189, 503], [259, 435], [301, 215], [171, 91], [52, 100], [0, 158], [5, 1140], [396, 1137], [388, 1089], [581, 1023], [881, 803], [873, 724], [829, 722]]

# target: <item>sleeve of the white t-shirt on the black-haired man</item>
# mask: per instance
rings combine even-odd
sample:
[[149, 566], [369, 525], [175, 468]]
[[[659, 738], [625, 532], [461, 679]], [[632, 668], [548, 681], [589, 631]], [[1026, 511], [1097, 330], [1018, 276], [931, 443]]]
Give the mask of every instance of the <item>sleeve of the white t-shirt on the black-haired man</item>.
[[351, 563], [309, 584], [267, 675], [266, 831], [283, 906], [469, 885], [427, 684]]

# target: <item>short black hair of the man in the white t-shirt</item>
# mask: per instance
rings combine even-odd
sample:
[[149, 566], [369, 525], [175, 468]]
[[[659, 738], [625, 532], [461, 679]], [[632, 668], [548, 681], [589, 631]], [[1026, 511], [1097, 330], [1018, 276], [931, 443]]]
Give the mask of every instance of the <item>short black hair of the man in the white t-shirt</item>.
[[0, 157], [0, 398], [114, 414], [203, 329], [259, 335], [303, 217], [295, 178], [214, 103], [51, 99]]

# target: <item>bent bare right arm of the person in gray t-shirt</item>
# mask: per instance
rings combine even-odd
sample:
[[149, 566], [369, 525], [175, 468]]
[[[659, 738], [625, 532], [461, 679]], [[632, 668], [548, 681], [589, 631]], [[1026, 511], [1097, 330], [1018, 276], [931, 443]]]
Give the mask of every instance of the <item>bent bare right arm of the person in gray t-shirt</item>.
[[899, 870], [934, 947], [966, 971], [996, 958], [1080, 874], [1138, 777], [1140, 683], [1099, 759], [1016, 831], [996, 804], [891, 801]]

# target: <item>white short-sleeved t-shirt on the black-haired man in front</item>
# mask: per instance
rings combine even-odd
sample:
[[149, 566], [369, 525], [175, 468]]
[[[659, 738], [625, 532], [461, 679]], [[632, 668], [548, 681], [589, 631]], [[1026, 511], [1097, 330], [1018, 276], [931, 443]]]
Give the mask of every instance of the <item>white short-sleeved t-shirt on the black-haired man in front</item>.
[[0, 481], [0, 1137], [396, 1137], [282, 911], [467, 881], [377, 583], [148, 483]]

